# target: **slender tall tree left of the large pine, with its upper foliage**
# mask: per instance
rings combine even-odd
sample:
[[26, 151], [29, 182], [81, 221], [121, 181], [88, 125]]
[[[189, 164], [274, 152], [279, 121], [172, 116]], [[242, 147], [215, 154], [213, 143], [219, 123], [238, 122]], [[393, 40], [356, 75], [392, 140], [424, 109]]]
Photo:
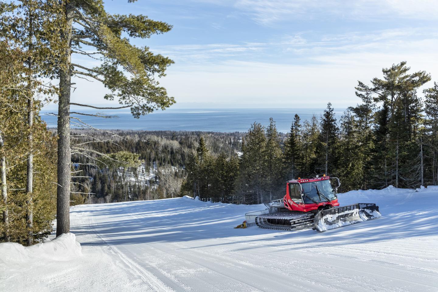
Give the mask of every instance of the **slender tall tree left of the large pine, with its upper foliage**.
[[[38, 115], [38, 104], [34, 96], [42, 94], [51, 99], [56, 92], [55, 85], [47, 82], [56, 76], [57, 56], [60, 52], [60, 29], [63, 27], [60, 15], [61, 5], [56, 0], [21, 0], [20, 4], [0, 2], [1, 30], [0, 37], [6, 39], [14, 47], [26, 53], [24, 70], [27, 84], [27, 172], [26, 172], [26, 222], [28, 229], [28, 245], [33, 242], [33, 136], [35, 119]], [[43, 80], [42, 77], [46, 77]], [[38, 128], [38, 124], [35, 124]]]

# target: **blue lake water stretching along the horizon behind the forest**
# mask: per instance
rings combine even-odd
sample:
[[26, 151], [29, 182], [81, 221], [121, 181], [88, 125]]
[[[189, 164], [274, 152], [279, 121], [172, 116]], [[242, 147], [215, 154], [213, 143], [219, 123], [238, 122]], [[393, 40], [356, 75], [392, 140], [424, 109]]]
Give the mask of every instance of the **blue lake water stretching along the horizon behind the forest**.
[[[166, 109], [141, 116], [140, 119], [134, 119], [126, 110], [100, 111], [119, 117], [104, 119], [80, 116], [80, 119], [100, 129], [246, 132], [254, 122], [268, 125], [269, 118], [272, 117], [276, 121], [277, 130], [287, 133], [296, 113], [300, 116], [301, 122], [310, 120], [313, 115], [319, 120], [324, 109]], [[339, 119], [343, 111], [344, 109], [335, 111], [336, 118]], [[82, 112], [95, 113], [96, 111]], [[48, 127], [56, 127], [57, 117], [47, 115], [47, 113], [53, 113], [53, 110], [43, 109], [40, 113], [42, 119], [46, 121]]]

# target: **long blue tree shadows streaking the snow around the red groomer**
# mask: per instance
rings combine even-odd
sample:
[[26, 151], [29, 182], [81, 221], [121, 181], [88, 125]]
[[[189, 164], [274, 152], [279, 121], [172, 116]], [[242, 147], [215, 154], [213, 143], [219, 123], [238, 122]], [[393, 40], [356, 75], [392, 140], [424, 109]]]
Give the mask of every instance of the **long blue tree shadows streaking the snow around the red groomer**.
[[[417, 211], [413, 211], [418, 207]], [[73, 208], [71, 214], [92, 216], [97, 223], [72, 225], [71, 232], [95, 235], [101, 240], [83, 246], [127, 245], [140, 243], [178, 243], [205, 239], [222, 239], [220, 243], [199, 246], [238, 245], [241, 250], [281, 246], [287, 249], [340, 246], [350, 243], [373, 243], [390, 239], [420, 238], [438, 235], [438, 211], [406, 206], [403, 213], [326, 232], [311, 229], [296, 232], [259, 229], [233, 229], [244, 220], [244, 213], [256, 207], [209, 204], [190, 199], [136, 201], [96, 204]], [[410, 211], [408, 211], [410, 209]], [[387, 211], [391, 211], [390, 209]]]

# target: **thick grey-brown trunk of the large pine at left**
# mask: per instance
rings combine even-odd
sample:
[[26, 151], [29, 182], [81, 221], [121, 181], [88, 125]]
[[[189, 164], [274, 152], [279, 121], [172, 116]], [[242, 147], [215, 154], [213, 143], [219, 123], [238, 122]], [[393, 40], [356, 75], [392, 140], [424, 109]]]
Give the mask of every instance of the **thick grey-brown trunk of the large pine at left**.
[[56, 235], [70, 232], [70, 94], [71, 94], [71, 37], [74, 1], [66, 4], [67, 27], [62, 34], [67, 47], [64, 49], [65, 67], [60, 70], [60, 96], [58, 102], [58, 188]]

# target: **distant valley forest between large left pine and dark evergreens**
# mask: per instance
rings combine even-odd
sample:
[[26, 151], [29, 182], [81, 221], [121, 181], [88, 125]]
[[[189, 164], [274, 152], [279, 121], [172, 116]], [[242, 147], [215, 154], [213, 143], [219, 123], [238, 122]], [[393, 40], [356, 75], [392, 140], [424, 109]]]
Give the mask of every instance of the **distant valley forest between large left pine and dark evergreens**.
[[74, 144], [88, 141], [86, 147], [99, 153], [95, 155], [99, 156], [97, 164], [87, 163], [89, 159], [84, 155], [72, 155], [74, 174], [78, 174], [73, 175], [76, 194], [72, 196], [72, 204], [180, 196], [186, 165], [190, 165], [191, 152], [195, 151], [199, 137], [205, 137], [211, 153], [228, 158], [236, 156], [242, 136], [238, 132], [113, 130], [112, 133], [120, 138], [109, 139], [113, 135], [109, 132], [72, 131]]

